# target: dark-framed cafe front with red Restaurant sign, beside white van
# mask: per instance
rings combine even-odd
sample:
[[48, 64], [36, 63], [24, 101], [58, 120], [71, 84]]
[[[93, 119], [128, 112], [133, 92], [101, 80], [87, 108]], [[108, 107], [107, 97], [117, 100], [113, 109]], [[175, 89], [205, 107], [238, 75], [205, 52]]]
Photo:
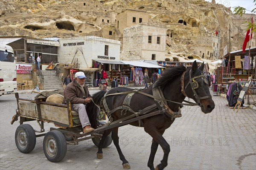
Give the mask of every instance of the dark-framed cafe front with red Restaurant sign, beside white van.
[[47, 68], [50, 62], [58, 62], [59, 42], [53, 40], [36, 39], [32, 37], [0, 37], [1, 45], [10, 45], [13, 48], [17, 82], [32, 80], [36, 69], [36, 59], [41, 55], [41, 69]]

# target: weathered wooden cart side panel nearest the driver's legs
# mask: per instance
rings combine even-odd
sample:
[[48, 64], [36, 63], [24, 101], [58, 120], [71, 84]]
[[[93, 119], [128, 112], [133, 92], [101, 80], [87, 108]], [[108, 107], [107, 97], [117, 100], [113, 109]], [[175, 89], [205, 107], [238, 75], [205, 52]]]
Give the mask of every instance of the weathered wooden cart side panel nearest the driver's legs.
[[42, 119], [47, 119], [59, 122], [65, 125], [70, 125], [67, 108], [62, 108], [52, 105], [40, 105]]

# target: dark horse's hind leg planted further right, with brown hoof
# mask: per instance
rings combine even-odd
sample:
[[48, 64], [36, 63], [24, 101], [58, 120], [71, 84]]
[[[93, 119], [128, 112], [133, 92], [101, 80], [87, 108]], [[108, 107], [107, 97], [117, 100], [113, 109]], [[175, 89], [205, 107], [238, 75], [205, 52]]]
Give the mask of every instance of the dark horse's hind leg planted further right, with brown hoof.
[[128, 163], [128, 161], [125, 159], [125, 156], [122, 154], [122, 150], [119, 146], [119, 137], [118, 137], [118, 127], [115, 127], [112, 129], [112, 139], [113, 139], [113, 143], [116, 146], [116, 150], [119, 154], [119, 158], [122, 161], [122, 165], [124, 169], [130, 169], [130, 164]]

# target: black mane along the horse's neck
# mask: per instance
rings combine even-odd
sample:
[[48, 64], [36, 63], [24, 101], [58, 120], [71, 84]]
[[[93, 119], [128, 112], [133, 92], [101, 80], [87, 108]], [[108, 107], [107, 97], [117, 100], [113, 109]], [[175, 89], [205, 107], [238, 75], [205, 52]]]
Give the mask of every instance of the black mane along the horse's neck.
[[172, 68], [166, 69], [164, 71], [162, 77], [160, 77], [155, 82], [156, 85], [154, 86], [154, 88], [156, 88], [156, 87], [164, 88], [164, 86], [167, 85], [167, 83], [169, 83], [169, 81], [176, 79], [181, 74], [183, 74], [184, 71], [186, 71], [186, 67], [183, 65], [179, 65], [177, 67], [172, 67]]

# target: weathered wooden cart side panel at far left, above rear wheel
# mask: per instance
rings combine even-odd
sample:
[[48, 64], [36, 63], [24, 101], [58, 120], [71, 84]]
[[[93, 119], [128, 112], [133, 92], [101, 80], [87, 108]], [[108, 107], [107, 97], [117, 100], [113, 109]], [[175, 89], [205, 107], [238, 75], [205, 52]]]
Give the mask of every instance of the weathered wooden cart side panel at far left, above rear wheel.
[[36, 104], [31, 102], [18, 102], [20, 115], [36, 117], [38, 118], [38, 113], [36, 112]]

